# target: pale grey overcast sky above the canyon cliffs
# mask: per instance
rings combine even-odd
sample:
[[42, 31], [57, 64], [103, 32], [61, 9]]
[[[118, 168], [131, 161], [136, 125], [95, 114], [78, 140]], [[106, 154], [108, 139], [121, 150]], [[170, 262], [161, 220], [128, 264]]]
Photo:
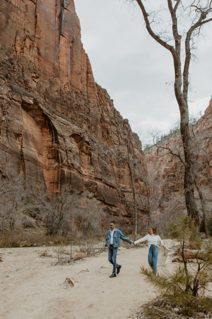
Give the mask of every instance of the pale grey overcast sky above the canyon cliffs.
[[[167, 133], [179, 119], [174, 96], [174, 67], [168, 50], [145, 30], [141, 12], [124, 0], [74, 0], [81, 41], [95, 81], [105, 88], [114, 107], [143, 145], [147, 131]], [[135, 2], [133, 2], [135, 3]], [[212, 94], [212, 23], [197, 43], [191, 63], [189, 113], [202, 114]], [[168, 84], [166, 84], [168, 82]], [[141, 134], [140, 134], [141, 132]]]

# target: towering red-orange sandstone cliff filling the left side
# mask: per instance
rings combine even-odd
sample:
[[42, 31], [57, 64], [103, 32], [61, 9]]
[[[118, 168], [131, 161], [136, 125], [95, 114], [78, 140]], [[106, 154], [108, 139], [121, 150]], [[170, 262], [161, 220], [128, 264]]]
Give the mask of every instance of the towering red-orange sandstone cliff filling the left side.
[[66, 185], [128, 223], [129, 173], [107, 150], [123, 142], [120, 123], [132, 131], [94, 81], [74, 2], [3, 0], [0, 13], [1, 172], [34, 190]]

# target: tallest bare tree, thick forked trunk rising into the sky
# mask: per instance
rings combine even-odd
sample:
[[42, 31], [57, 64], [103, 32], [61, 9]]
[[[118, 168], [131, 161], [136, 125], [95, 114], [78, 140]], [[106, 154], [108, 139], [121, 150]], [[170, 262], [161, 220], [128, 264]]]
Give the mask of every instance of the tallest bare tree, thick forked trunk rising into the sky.
[[[146, 1], [136, 1], [145, 20], [150, 36], [161, 46], [170, 51], [174, 63], [174, 93], [180, 109], [180, 131], [185, 159], [184, 191], [188, 215], [195, 219], [199, 228], [199, 215], [195, 201], [195, 154], [189, 132], [188, 86], [189, 66], [195, 38], [199, 36], [202, 26], [212, 21], [212, 1], [208, 0], [167, 0], [165, 10], [162, 2], [154, 1], [159, 9], [150, 12]], [[153, 1], [148, 3], [153, 4]], [[166, 14], [168, 22], [165, 22]], [[164, 13], [164, 15], [163, 15]], [[163, 15], [163, 16], [162, 16]], [[161, 17], [162, 16], [162, 17]], [[171, 19], [171, 23], [169, 22]], [[158, 30], [158, 22], [163, 21], [164, 28]], [[160, 24], [161, 25], [161, 24]], [[169, 28], [170, 27], [170, 28]], [[168, 31], [169, 28], [169, 31]], [[184, 52], [182, 53], [182, 44]], [[183, 65], [183, 70], [182, 70]]]

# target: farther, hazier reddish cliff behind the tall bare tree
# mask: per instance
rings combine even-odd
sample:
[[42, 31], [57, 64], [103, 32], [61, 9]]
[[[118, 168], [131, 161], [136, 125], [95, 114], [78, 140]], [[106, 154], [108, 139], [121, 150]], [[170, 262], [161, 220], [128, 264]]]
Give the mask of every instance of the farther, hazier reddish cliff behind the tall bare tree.
[[[197, 184], [203, 192], [206, 202], [210, 201], [212, 182], [212, 100], [205, 114], [195, 123], [190, 130], [193, 137], [193, 147], [197, 164]], [[184, 166], [179, 157], [184, 160], [180, 131], [162, 137], [157, 146], [150, 146], [144, 150], [147, 161], [147, 169], [151, 180], [152, 196], [157, 197], [157, 205], [152, 207], [152, 213], [172, 213], [174, 210], [185, 211], [184, 205]], [[198, 208], [201, 211], [201, 204], [197, 190], [195, 190]]]

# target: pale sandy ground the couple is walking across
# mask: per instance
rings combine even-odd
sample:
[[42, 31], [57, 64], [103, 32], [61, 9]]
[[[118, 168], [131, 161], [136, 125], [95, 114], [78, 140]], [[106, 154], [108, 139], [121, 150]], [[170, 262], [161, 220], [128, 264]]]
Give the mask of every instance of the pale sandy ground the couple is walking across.
[[[156, 295], [155, 288], [140, 274], [147, 266], [147, 246], [123, 249], [116, 278], [107, 251], [74, 264], [54, 265], [52, 257], [40, 257], [43, 247], [1, 249], [1, 317], [4, 319], [126, 319]], [[67, 248], [68, 249], [68, 248]], [[53, 266], [52, 266], [53, 264]], [[171, 270], [173, 264], [169, 263]], [[73, 278], [74, 286], [63, 285]]]

